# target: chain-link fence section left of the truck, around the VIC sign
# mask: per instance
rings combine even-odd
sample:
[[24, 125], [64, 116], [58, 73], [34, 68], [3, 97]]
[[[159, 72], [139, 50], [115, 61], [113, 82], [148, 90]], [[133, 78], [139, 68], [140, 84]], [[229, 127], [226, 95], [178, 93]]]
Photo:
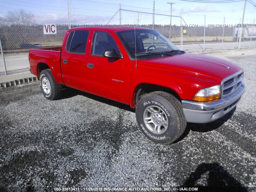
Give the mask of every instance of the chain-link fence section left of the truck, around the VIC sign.
[[[0, 58], [0, 75], [29, 70], [28, 50], [31, 48], [62, 45], [68, 30], [68, 3], [50, 7], [43, 1], [0, 0], [0, 4], [0, 38], [4, 53]], [[56, 34], [44, 34], [44, 24], [48, 23], [57, 25]]]

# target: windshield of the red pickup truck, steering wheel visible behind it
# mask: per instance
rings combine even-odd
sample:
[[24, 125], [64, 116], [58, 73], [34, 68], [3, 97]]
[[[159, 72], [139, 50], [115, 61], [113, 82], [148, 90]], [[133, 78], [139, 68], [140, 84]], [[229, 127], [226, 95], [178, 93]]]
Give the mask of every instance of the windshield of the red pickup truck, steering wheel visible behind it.
[[168, 38], [154, 30], [136, 29], [120, 31], [117, 34], [131, 58], [150, 54], [162, 55], [179, 50]]

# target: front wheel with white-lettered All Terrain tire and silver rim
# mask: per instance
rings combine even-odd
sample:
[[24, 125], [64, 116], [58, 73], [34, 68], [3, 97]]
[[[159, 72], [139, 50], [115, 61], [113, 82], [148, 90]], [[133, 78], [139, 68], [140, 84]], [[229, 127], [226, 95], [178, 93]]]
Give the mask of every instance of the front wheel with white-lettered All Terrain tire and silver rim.
[[136, 119], [144, 135], [160, 144], [174, 142], [186, 128], [182, 105], [166, 92], [152, 92], [142, 97], [137, 104]]

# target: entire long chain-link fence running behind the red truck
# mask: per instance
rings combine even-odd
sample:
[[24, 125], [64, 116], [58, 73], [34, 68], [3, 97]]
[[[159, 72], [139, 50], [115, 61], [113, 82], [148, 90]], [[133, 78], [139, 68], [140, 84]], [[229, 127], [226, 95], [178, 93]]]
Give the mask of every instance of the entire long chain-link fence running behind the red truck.
[[[186, 51], [256, 47], [256, 24], [252, 19], [244, 22], [250, 25], [240, 27], [239, 19], [176, 12], [171, 16], [169, 11], [158, 8], [155, 2], [152, 8], [146, 8], [141, 2], [129, 6], [104, 0], [88, 1], [87, 4], [81, 0], [66, 0], [58, 5], [55, 2], [55, 6], [50, 1], [12, 2], [0, 0], [2, 10], [10, 10], [10, 6], [13, 8], [13, 11], [0, 14], [0, 75], [29, 70], [29, 49], [61, 46], [66, 30], [76, 26], [135, 25], [151, 28]], [[195, 22], [187, 23], [191, 17]], [[212, 19], [222, 24], [213, 24], [210, 22]], [[240, 34], [241, 44], [238, 41]]]

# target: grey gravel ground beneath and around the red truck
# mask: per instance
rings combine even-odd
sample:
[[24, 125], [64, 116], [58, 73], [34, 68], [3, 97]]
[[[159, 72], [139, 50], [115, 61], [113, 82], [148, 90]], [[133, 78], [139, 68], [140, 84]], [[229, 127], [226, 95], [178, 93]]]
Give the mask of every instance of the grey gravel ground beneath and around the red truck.
[[248, 52], [208, 53], [244, 68], [246, 92], [236, 110], [189, 123], [171, 145], [148, 140], [124, 104], [73, 89], [49, 101], [38, 82], [1, 89], [0, 191], [256, 191], [256, 49]]

